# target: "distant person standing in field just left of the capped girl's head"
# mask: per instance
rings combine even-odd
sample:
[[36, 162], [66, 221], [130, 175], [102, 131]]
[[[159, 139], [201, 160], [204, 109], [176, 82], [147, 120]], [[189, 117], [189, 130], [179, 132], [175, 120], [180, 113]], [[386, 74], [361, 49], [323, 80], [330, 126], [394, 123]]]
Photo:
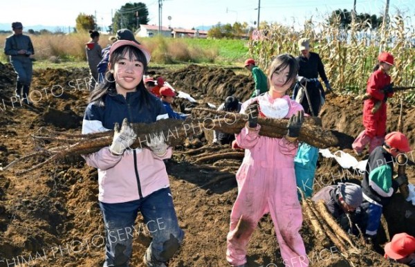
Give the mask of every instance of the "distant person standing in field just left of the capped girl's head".
[[102, 48], [98, 42], [100, 41], [100, 33], [98, 30], [89, 30], [91, 40], [85, 44], [86, 60], [89, 65], [89, 73], [91, 74], [91, 81], [89, 82], [89, 91], [95, 89], [95, 84], [98, 82], [98, 63], [102, 59]]

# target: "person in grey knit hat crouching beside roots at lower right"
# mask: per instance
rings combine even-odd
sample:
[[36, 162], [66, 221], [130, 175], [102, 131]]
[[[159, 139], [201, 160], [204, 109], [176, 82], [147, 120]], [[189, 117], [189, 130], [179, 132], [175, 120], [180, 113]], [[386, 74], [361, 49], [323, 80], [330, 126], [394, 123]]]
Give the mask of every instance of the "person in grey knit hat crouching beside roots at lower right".
[[[329, 185], [317, 192], [312, 200], [315, 203], [323, 200], [327, 210], [329, 210], [344, 230], [357, 233], [357, 229], [354, 227], [354, 224], [357, 222], [355, 213], [363, 200], [362, 188], [359, 185], [354, 183]], [[347, 214], [351, 217], [352, 223], [349, 223]]]

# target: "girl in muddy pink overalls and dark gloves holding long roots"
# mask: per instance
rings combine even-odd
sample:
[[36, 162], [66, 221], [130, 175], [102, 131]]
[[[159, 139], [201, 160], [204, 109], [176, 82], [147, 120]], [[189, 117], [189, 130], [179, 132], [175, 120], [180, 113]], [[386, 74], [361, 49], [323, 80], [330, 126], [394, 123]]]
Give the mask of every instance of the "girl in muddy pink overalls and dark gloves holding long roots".
[[[226, 259], [232, 266], [248, 266], [248, 241], [259, 219], [268, 212], [275, 225], [285, 266], [308, 266], [304, 242], [299, 235], [302, 210], [294, 171], [304, 111], [286, 95], [295, 82], [297, 71], [298, 64], [293, 56], [275, 57], [268, 69], [269, 91], [242, 105], [241, 113], [249, 113], [249, 120], [237, 134], [237, 145], [245, 149], [245, 158], [237, 172], [238, 196], [230, 215], [227, 238]], [[290, 118], [288, 134], [283, 138], [259, 136], [258, 113], [260, 117]]]

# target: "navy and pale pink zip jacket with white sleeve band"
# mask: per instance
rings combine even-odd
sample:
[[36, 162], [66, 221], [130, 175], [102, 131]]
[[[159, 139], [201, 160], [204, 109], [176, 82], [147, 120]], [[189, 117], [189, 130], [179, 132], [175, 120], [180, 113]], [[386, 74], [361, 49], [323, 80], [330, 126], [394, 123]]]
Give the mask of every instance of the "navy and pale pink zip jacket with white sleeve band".
[[[94, 133], [113, 129], [118, 122], [127, 118], [129, 122], [155, 122], [168, 118], [160, 100], [150, 96], [149, 105], [143, 105], [142, 92], [122, 95], [108, 94], [104, 107], [92, 102], [86, 107], [82, 122], [82, 133]], [[148, 148], [127, 149], [124, 154], [113, 155], [109, 147], [84, 155], [86, 163], [98, 169], [98, 200], [104, 203], [123, 203], [142, 199], [149, 194], [169, 187], [163, 159], [172, 156], [172, 149], [162, 158], [155, 156]]]

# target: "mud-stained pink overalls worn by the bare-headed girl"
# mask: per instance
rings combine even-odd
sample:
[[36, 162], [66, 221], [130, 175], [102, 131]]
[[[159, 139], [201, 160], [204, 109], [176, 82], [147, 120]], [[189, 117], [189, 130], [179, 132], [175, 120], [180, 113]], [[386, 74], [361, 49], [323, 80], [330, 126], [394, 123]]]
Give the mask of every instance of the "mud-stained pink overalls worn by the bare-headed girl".
[[[241, 113], [259, 98], [273, 102], [268, 93], [260, 95], [243, 103]], [[286, 118], [303, 109], [287, 95], [284, 98], [290, 106]], [[232, 266], [246, 264], [246, 246], [250, 236], [259, 219], [270, 212], [285, 266], [306, 267], [308, 258], [299, 235], [302, 210], [294, 171], [297, 144], [285, 138], [259, 136], [260, 128], [258, 125], [255, 131], [249, 131], [245, 127], [237, 134], [238, 145], [246, 150], [237, 172], [238, 196], [230, 215], [226, 259]], [[241, 216], [242, 232], [235, 229]]]

